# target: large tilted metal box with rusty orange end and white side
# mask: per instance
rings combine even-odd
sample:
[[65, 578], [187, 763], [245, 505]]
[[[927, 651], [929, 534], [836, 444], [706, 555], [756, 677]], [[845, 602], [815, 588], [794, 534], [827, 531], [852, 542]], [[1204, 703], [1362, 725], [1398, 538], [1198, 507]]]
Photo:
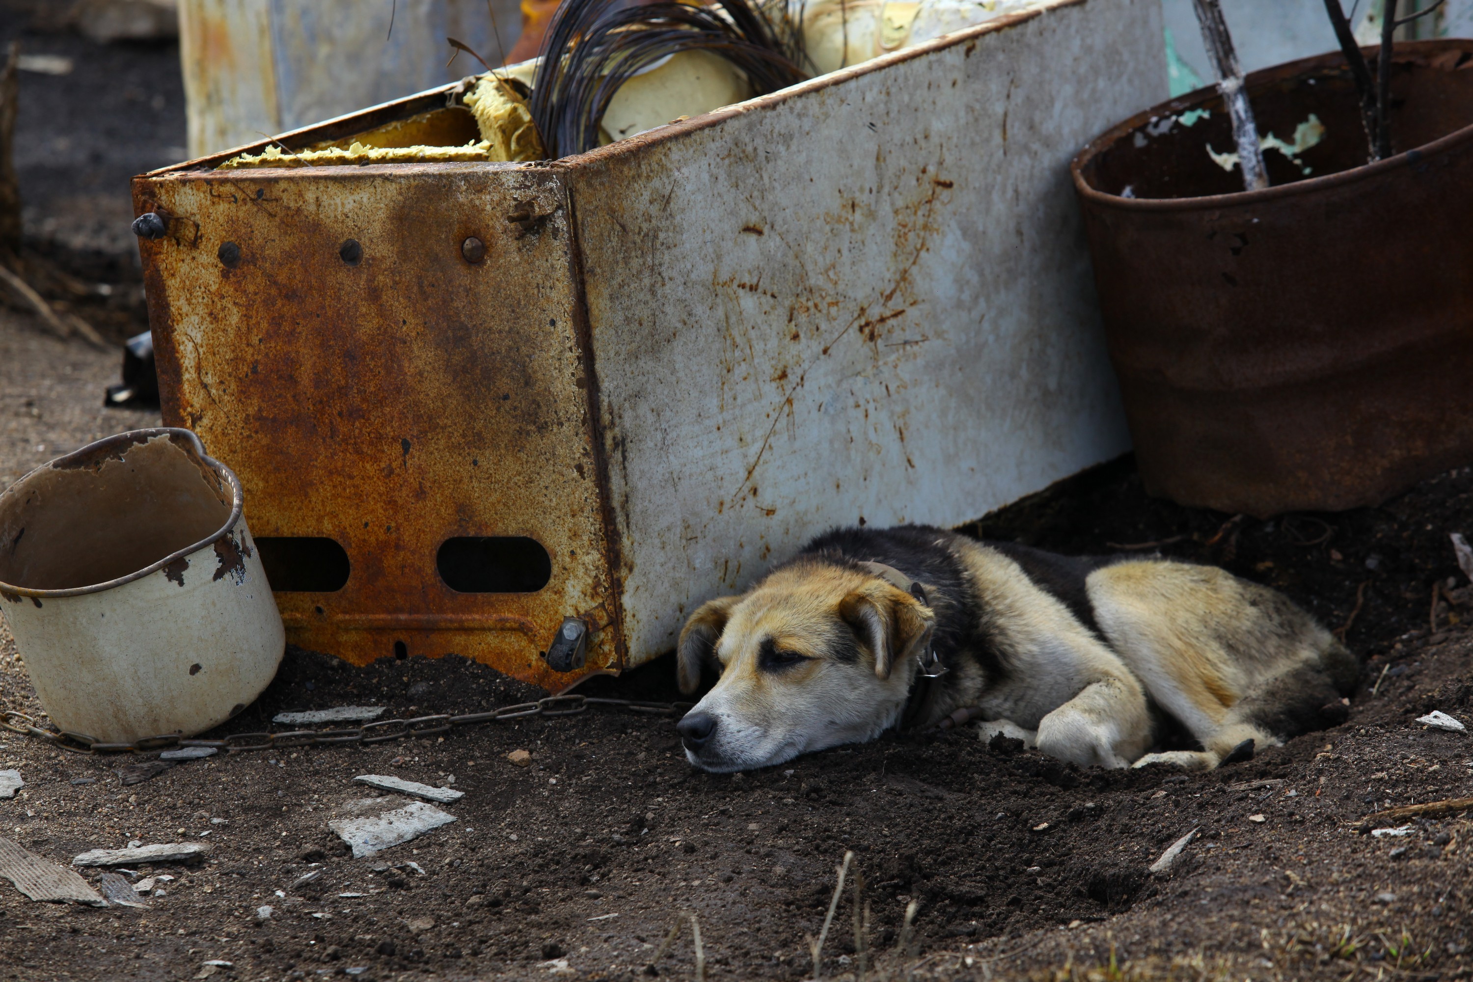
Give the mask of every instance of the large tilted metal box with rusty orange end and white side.
[[1164, 88], [1158, 0], [1058, 0], [563, 160], [156, 171], [165, 420], [240, 476], [296, 643], [630, 667], [828, 526], [1128, 446], [1068, 162]]

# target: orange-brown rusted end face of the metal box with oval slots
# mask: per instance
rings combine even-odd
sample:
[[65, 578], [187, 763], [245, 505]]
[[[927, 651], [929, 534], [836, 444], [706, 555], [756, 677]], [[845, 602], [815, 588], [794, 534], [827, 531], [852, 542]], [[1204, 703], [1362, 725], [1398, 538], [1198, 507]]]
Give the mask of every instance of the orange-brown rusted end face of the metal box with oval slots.
[[[171, 215], [141, 241], [165, 418], [240, 474], [258, 539], [348, 554], [340, 590], [278, 592], [292, 640], [358, 664], [457, 652], [557, 688], [539, 652], [577, 615], [588, 667], [619, 663], [557, 175], [196, 169], [136, 194]], [[492, 261], [465, 261], [470, 237]], [[551, 582], [455, 592], [436, 555], [457, 536], [535, 539]]]

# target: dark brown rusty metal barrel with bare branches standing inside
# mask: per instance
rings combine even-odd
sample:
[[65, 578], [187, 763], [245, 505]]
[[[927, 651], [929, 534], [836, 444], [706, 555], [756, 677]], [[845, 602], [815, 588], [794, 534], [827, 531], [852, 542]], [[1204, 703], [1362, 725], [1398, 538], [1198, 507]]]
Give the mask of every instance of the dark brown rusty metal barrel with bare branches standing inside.
[[[1473, 459], [1473, 41], [1398, 46], [1395, 147], [1364, 165], [1340, 54], [1248, 78], [1274, 187], [1243, 193], [1202, 90], [1074, 160], [1146, 489], [1267, 517], [1374, 505]], [[1193, 110], [1206, 109], [1206, 118]]]

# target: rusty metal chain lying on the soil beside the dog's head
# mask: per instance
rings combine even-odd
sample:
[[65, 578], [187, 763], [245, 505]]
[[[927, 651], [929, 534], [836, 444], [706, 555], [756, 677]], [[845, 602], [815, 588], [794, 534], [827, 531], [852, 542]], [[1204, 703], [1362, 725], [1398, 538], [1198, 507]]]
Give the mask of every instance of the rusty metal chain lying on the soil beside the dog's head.
[[379, 720], [364, 723], [352, 729], [334, 730], [287, 730], [284, 733], [231, 733], [218, 741], [186, 739], [178, 733], [164, 736], [146, 736], [131, 743], [105, 743], [85, 733], [71, 733], [68, 730], [53, 730], [40, 726], [40, 720], [15, 710], [0, 713], [0, 727], [24, 736], [44, 741], [57, 749], [74, 754], [144, 754], [152, 751], [181, 749], [186, 746], [208, 746], [228, 754], [245, 754], [247, 751], [267, 751], [280, 746], [336, 746], [340, 743], [384, 743], [404, 738], [437, 736], [449, 733], [461, 726], [477, 726], [480, 723], [504, 723], [507, 720], [523, 720], [539, 716], [555, 718], [560, 716], [577, 716], [588, 707], [604, 707], [610, 710], [629, 710], [630, 713], [645, 713], [648, 716], [685, 716], [694, 702], [639, 702], [635, 699], [601, 699], [585, 695], [549, 695], [536, 702], [518, 702], [505, 705], [488, 713], [465, 713], [461, 716], [417, 716], [412, 720]]

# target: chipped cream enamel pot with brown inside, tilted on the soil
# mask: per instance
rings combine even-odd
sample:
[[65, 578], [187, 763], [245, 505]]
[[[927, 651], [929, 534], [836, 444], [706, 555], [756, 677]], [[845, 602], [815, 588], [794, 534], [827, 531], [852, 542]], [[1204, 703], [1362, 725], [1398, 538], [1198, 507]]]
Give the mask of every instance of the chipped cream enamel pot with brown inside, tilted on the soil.
[[0, 495], [0, 611], [57, 727], [193, 736], [261, 695], [286, 635], [242, 505], [175, 428], [90, 443]]

